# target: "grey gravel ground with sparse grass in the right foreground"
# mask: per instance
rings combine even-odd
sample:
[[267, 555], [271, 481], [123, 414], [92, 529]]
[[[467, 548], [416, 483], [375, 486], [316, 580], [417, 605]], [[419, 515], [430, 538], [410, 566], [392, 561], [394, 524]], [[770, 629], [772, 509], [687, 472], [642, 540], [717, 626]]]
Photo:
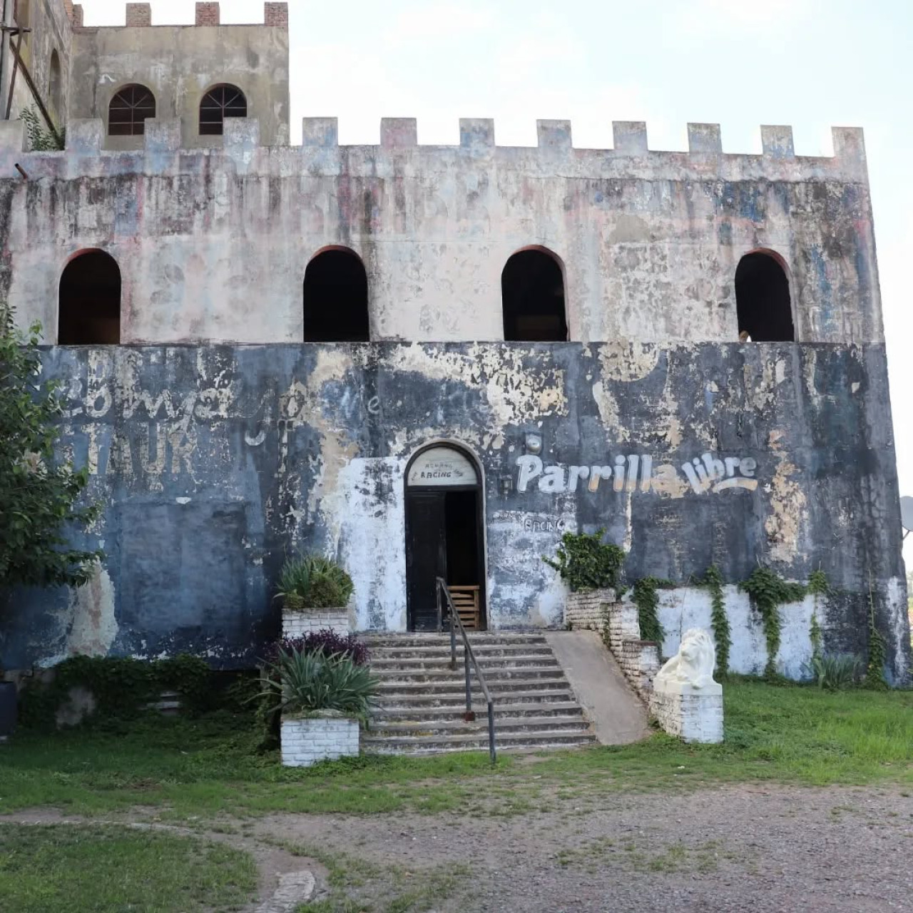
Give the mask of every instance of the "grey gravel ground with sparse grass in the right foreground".
[[[377, 913], [913, 910], [913, 797], [897, 789], [755, 785], [552, 808], [275, 815], [192, 831], [255, 855], [260, 909], [303, 866], [316, 878], [312, 899]], [[22, 813], [0, 826], [55, 820]]]

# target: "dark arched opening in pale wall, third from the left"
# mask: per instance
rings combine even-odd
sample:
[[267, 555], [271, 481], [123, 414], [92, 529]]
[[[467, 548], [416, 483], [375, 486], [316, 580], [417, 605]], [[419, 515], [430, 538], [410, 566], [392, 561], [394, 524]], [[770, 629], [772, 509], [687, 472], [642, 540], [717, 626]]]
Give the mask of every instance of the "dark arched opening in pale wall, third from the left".
[[568, 338], [564, 276], [558, 258], [543, 247], [520, 250], [501, 273], [504, 339], [563, 342]]

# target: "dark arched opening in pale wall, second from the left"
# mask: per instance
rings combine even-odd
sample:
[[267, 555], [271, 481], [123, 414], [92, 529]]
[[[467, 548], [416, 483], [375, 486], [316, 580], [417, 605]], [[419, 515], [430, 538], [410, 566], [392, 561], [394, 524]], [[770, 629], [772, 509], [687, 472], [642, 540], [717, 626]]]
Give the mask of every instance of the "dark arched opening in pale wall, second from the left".
[[367, 342], [368, 274], [348, 247], [328, 247], [304, 272], [304, 341]]

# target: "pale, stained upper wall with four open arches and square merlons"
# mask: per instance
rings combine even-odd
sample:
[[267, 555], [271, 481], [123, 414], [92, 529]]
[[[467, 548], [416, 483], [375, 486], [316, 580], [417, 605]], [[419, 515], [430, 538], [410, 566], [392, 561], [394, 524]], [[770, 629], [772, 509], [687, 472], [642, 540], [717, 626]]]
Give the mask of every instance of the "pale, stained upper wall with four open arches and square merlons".
[[308, 261], [343, 245], [367, 268], [373, 340], [494, 341], [501, 270], [538, 245], [563, 263], [572, 340], [735, 341], [736, 266], [764, 247], [788, 265], [798, 341], [883, 341], [861, 131], [812, 159], [786, 128], [726, 155], [695, 124], [689, 153], [648, 152], [640, 124], [616, 124], [609, 151], [573, 149], [563, 121], [540, 121], [538, 148], [496, 147], [490, 121], [462, 121], [456, 147], [415, 145], [415, 121], [352, 147], [331, 119], [306, 121], [300, 148], [228, 126], [222, 150], [182, 151], [161, 121], [142, 151], [99, 152], [100, 124], [74, 121], [68, 152], [25, 157], [28, 181], [0, 148], [19, 319], [55, 339], [60, 273], [100, 247], [121, 267], [122, 341], [301, 341]]

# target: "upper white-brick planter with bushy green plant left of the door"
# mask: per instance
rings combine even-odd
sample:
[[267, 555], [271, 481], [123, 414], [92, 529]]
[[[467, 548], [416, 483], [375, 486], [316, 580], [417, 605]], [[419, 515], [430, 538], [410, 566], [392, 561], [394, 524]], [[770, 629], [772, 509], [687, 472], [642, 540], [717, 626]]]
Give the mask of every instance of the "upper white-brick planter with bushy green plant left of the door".
[[322, 555], [297, 555], [282, 565], [278, 598], [282, 600], [282, 636], [301, 637], [330, 629], [349, 632], [352, 578]]

